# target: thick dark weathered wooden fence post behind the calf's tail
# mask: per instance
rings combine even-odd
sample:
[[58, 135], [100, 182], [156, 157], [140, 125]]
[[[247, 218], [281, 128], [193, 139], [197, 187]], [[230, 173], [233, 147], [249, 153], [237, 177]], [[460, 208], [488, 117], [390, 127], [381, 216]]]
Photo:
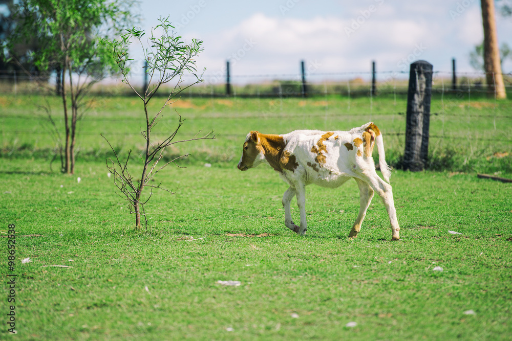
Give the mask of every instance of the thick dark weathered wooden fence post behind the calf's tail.
[[409, 73], [403, 168], [413, 172], [423, 170], [429, 156], [432, 70], [431, 63], [419, 60], [411, 64]]

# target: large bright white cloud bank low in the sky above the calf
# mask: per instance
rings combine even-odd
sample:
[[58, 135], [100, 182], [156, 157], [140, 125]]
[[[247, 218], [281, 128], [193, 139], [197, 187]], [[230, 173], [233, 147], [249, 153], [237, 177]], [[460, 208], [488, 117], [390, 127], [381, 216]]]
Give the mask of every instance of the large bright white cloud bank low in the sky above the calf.
[[[215, 70], [230, 59], [233, 75], [297, 73], [301, 59], [321, 64], [315, 70], [318, 73], [366, 72], [371, 60], [396, 69], [399, 60], [418, 44], [434, 43], [428, 27], [409, 19], [369, 18], [354, 26], [355, 30], [351, 24], [352, 19], [282, 18], [257, 13], [236, 27], [212, 33], [211, 39], [205, 37], [203, 60], [217, 63], [206, 65], [208, 70]], [[254, 45], [245, 51], [247, 41]]]

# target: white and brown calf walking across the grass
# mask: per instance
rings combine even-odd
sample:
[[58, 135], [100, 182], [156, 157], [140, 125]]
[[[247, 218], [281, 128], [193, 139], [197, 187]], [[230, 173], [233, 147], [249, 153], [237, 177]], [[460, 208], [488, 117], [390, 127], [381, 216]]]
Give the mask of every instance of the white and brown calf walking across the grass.
[[[372, 158], [374, 145], [377, 145], [380, 170], [386, 181], [375, 171]], [[283, 196], [285, 225], [297, 234], [303, 235], [307, 230], [307, 185], [336, 188], [354, 178], [359, 186], [360, 207], [349, 237], [357, 237], [373, 194], [377, 192], [388, 211], [392, 239], [400, 238], [393, 193], [389, 185], [391, 171], [386, 164], [382, 135], [373, 122], [350, 131], [295, 130], [282, 135], [251, 131], [245, 139], [238, 169], [245, 171], [262, 163], [278, 171], [290, 185]], [[295, 225], [291, 219], [290, 201], [293, 196], [297, 197], [301, 212], [300, 226]]]

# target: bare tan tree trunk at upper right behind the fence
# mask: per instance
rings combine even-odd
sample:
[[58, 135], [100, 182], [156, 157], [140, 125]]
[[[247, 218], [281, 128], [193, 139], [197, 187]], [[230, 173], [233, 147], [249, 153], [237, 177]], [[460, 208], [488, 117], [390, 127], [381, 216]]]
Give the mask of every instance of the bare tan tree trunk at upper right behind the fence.
[[483, 61], [487, 79], [487, 87], [496, 93], [497, 99], [507, 98], [503, 74], [501, 72], [500, 50], [498, 47], [498, 33], [494, 0], [482, 0], [483, 22]]

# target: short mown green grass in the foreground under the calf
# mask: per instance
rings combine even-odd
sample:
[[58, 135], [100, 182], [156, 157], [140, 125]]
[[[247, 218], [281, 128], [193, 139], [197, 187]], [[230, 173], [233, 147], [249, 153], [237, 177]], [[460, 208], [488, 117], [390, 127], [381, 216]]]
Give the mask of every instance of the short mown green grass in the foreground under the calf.
[[[509, 339], [510, 184], [394, 172], [398, 242], [378, 198], [358, 238], [347, 238], [355, 181], [310, 186], [299, 237], [284, 226], [283, 181], [266, 166], [242, 173], [237, 161], [165, 170], [163, 186], [178, 190], [155, 193], [144, 233], [103, 163], [80, 162], [66, 176], [37, 158], [3, 158], [0, 230], [13, 223], [17, 234], [16, 338]], [[7, 238], [0, 254], [5, 279]]]

